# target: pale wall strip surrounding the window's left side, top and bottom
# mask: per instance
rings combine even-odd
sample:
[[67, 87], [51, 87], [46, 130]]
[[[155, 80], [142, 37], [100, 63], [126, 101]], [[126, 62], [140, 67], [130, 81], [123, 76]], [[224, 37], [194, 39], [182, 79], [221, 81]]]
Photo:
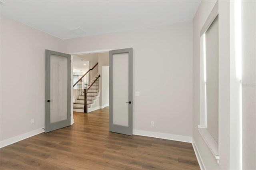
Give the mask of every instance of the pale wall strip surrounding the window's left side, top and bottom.
[[218, 164], [198, 132], [200, 125], [200, 31], [208, 18], [214, 1], [202, 1], [193, 19], [193, 138], [206, 169], [218, 169]]

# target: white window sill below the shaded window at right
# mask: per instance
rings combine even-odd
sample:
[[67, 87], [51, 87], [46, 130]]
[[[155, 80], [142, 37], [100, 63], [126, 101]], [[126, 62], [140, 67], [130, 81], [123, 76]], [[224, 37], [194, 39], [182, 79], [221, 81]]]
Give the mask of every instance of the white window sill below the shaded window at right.
[[208, 132], [208, 130], [202, 126], [198, 125], [198, 130], [206, 142], [206, 144], [209, 146], [210, 150], [212, 151], [212, 154], [214, 155], [215, 159], [217, 160], [217, 163], [219, 164], [220, 156], [219, 156], [219, 146], [218, 142], [212, 137], [212, 135]]

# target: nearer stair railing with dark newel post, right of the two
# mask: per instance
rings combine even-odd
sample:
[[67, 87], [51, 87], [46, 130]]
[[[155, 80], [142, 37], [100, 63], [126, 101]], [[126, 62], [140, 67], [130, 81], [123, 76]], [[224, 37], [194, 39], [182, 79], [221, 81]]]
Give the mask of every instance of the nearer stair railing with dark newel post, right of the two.
[[[99, 88], [95, 89], [93, 88], [96, 84], [99, 85], [99, 77], [100, 74], [96, 77], [96, 79], [93, 81], [93, 83], [88, 87], [88, 89], [86, 89], [86, 87], [84, 88], [84, 113], [87, 113], [87, 109], [88, 109], [88, 104], [87, 101], [88, 100], [93, 100], [95, 99], [95, 97], [98, 95], [99, 93]], [[94, 85], [95, 84], [95, 85]], [[98, 86], [97, 85], [97, 86]], [[92, 93], [92, 95], [87, 95], [88, 93]]]

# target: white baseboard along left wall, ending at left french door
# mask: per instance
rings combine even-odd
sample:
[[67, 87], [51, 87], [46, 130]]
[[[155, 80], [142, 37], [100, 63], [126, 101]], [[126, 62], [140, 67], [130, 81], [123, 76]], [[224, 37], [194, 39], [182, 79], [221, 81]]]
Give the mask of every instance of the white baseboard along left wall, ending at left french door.
[[2, 148], [4, 146], [8, 146], [8, 145], [13, 144], [13, 143], [16, 143], [20, 140], [24, 140], [24, 139], [29, 138], [31, 136], [35, 136], [39, 133], [42, 133], [42, 132], [44, 132], [43, 128], [44, 127], [41, 127], [41, 128], [36, 129], [36, 130], [32, 130], [30, 132], [26, 132], [26, 133], [20, 134], [18, 136], [14, 136], [14, 137], [8, 138], [6, 140], [2, 140], [2, 141], [0, 141], [0, 148]]

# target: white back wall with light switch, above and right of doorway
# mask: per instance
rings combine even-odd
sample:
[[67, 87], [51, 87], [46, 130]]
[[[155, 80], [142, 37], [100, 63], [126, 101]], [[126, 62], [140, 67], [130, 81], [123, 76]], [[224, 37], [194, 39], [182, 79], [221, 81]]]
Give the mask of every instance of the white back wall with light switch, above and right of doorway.
[[132, 47], [133, 128], [192, 136], [191, 21], [64, 42], [69, 53]]

